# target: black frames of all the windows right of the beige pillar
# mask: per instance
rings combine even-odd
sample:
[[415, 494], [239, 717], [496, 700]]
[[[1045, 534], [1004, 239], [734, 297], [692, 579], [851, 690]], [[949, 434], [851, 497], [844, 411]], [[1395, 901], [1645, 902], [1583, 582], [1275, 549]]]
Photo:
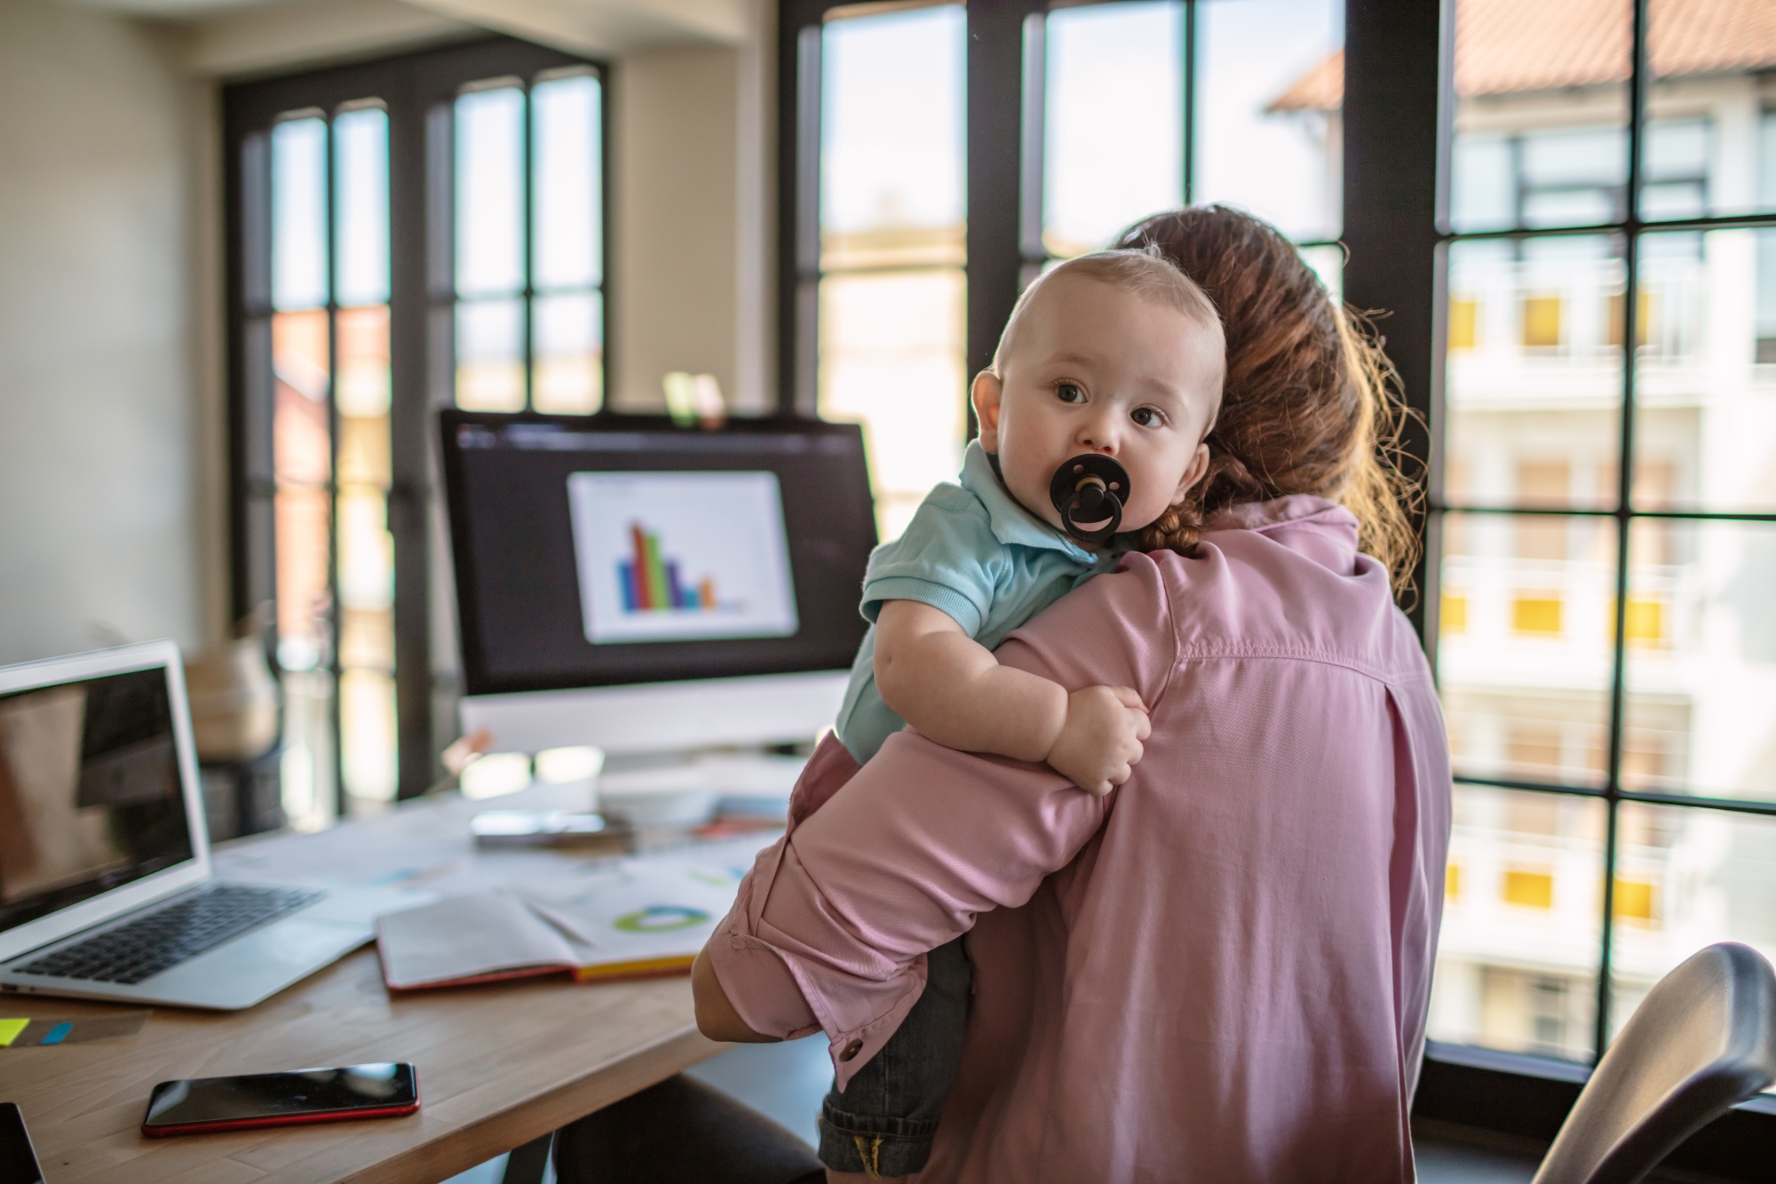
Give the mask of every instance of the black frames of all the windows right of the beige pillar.
[[[1185, 43], [1193, 44], [1195, 7], [1215, 0], [1185, 0]], [[1630, 176], [1639, 176], [1639, 144], [1646, 107], [1646, 12], [1648, 0], [1634, 5], [1634, 71]], [[778, 359], [781, 411], [819, 411], [819, 162], [821, 162], [821, 27], [833, 9], [863, 14], [868, 5], [836, 0], [780, 0], [778, 5]], [[892, 2], [883, 11], [895, 11]], [[968, 373], [982, 370], [993, 356], [998, 332], [1011, 315], [1019, 281], [1039, 267], [1041, 231], [1041, 85], [1025, 82], [1025, 27], [1030, 18], [1071, 7], [1044, 0], [973, 0], [968, 11]], [[1193, 57], [1193, 53], [1192, 53]], [[1449, 228], [1449, 162], [1455, 124], [1455, 0], [1346, 0], [1344, 4], [1344, 96], [1343, 96], [1343, 270], [1344, 302], [1376, 309], [1378, 331], [1399, 380], [1410, 416], [1399, 439], [1408, 473], [1428, 494], [1414, 523], [1424, 544], [1401, 608], [1428, 652], [1437, 642], [1437, 556], [1442, 516], [1442, 391], [1447, 325], [1449, 245], [1465, 238], [1511, 236], [1526, 231], [1458, 235]], [[1032, 98], [1034, 92], [1034, 98]], [[1188, 112], [1193, 87], [1185, 87], [1186, 151], [1185, 201], [1192, 199]], [[1034, 194], [1032, 194], [1034, 187]], [[1621, 222], [1591, 228], [1561, 228], [1572, 233], [1623, 233], [1632, 244], [1643, 229], [1717, 229], [1776, 226], [1776, 213], [1703, 217], [1641, 222], [1639, 187], [1634, 206]], [[1032, 236], [1030, 228], [1035, 228]], [[1542, 231], [1534, 231], [1542, 233]], [[1321, 245], [1300, 242], [1302, 247]], [[1636, 272], [1629, 251], [1629, 288], [1623, 297], [1623, 343], [1636, 340]], [[1687, 795], [1632, 793], [1620, 788], [1621, 700], [1627, 613], [1627, 530], [1634, 517], [1776, 521], [1771, 514], [1675, 514], [1632, 512], [1632, 409], [1634, 366], [1625, 368], [1625, 423], [1621, 482], [1616, 510], [1593, 510], [1614, 517], [1618, 526], [1616, 672], [1611, 699], [1611, 756], [1604, 789], [1575, 789], [1511, 780], [1456, 779], [1506, 789], [1533, 789], [1602, 798], [1607, 802], [1606, 836], [1606, 930], [1602, 967], [1609, 965], [1611, 889], [1614, 878], [1616, 807], [1620, 802], [1650, 802], [1696, 809], [1742, 811], [1776, 816], [1776, 804], [1696, 798]], [[959, 395], [961, 396], [961, 395]], [[973, 418], [970, 416], [970, 434]], [[1472, 507], [1460, 507], [1471, 510]], [[1522, 510], [1485, 510], [1522, 512]], [[1559, 510], [1568, 514], [1570, 510]], [[1598, 1042], [1606, 1047], [1609, 976], [1598, 976]], [[1526, 1145], [1550, 1141], [1572, 1109], [1588, 1076], [1584, 1065], [1538, 1056], [1430, 1042], [1414, 1120], [1490, 1132]], [[1764, 1179], [1767, 1163], [1760, 1147], [1776, 1136], [1776, 1099], [1760, 1097], [1735, 1108], [1680, 1147], [1668, 1164], [1709, 1172], [1723, 1179]]]

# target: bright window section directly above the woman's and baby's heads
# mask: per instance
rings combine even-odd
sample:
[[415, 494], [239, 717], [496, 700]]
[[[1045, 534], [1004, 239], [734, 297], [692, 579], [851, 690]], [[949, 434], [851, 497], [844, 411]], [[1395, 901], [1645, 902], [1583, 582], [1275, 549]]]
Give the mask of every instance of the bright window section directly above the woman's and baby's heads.
[[1341, 0], [1137, 0], [1028, 21], [1043, 204], [1025, 276], [1149, 213], [1218, 201], [1304, 244], [1336, 284], [1339, 142], [1318, 98], [1343, 27]]

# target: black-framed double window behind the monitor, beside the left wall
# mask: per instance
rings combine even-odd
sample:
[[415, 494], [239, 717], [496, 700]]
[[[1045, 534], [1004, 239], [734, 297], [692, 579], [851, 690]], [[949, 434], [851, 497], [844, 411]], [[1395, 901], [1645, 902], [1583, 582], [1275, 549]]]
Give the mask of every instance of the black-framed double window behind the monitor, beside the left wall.
[[501, 37], [226, 89], [233, 599], [275, 606], [298, 827], [453, 727], [432, 409], [602, 402], [602, 78]]

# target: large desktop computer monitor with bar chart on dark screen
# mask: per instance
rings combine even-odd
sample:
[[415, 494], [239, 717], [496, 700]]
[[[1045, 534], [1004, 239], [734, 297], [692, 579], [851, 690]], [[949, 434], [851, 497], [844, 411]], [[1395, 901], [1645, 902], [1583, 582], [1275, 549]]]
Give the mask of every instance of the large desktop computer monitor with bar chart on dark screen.
[[876, 546], [856, 425], [440, 412], [464, 727], [506, 750], [810, 740]]

